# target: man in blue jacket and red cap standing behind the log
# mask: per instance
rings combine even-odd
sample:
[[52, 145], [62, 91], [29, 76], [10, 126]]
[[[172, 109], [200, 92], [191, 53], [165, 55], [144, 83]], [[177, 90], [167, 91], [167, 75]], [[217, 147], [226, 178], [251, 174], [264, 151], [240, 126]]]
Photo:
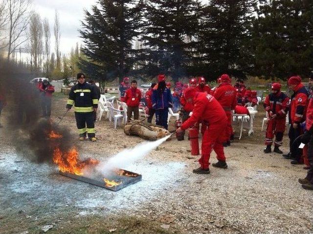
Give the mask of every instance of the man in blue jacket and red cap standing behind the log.
[[166, 87], [165, 75], [158, 75], [158, 84], [152, 93], [152, 107], [156, 110], [156, 125], [168, 128], [168, 108], [173, 107], [171, 91]]

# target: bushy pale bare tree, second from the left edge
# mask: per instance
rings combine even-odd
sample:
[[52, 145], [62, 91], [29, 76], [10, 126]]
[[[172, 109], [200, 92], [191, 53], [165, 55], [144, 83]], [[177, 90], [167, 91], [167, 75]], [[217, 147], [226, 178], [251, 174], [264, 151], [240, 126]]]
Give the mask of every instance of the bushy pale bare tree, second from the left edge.
[[40, 71], [43, 54], [43, 25], [39, 14], [34, 13], [30, 19], [30, 54], [32, 57], [33, 71]]

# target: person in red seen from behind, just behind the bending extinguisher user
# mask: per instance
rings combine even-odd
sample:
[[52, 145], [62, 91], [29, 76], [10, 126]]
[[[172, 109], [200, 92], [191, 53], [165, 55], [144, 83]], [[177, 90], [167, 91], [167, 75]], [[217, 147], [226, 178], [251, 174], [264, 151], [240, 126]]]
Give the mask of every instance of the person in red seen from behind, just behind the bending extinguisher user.
[[237, 98], [236, 98], [236, 90], [231, 85], [231, 79], [229, 75], [223, 74], [221, 76], [222, 83], [220, 86], [216, 89], [214, 92], [215, 99], [221, 104], [223, 107], [226, 116], [227, 116], [227, 128], [226, 128], [226, 134], [225, 134], [225, 140], [224, 146], [230, 145], [230, 138], [233, 134], [233, 128], [231, 126], [232, 122], [232, 115], [231, 110], [234, 110], [237, 104]]

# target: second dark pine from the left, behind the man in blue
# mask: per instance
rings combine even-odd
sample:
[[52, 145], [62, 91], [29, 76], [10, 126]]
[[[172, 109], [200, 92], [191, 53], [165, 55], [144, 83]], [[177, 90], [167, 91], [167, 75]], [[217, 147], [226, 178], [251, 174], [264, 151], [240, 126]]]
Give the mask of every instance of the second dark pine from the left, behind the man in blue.
[[139, 72], [171, 75], [176, 81], [188, 75], [197, 44], [199, 0], [147, 0]]

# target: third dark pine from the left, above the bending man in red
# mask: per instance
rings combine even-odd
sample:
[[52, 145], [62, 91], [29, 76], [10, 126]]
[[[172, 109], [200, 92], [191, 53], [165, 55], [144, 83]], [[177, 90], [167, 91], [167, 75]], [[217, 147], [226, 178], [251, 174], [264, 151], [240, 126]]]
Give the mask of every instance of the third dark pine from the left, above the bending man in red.
[[256, 0], [211, 0], [201, 21], [201, 68], [208, 79], [222, 73], [245, 77], [251, 63], [248, 48]]

